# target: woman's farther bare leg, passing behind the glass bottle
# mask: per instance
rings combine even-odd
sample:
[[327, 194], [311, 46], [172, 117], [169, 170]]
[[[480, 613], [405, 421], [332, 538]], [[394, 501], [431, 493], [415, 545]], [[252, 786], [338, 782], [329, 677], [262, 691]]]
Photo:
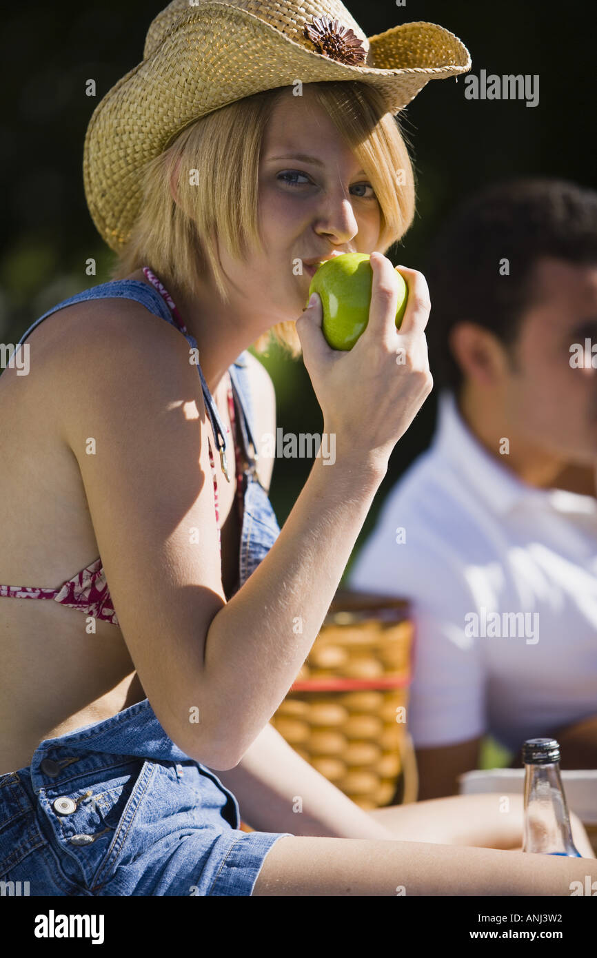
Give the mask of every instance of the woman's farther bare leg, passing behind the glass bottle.
[[[369, 814], [403, 841], [521, 849], [523, 810], [522, 795], [494, 792], [392, 805]], [[577, 815], [570, 815], [570, 824], [581, 855], [594, 858], [585, 827]]]

